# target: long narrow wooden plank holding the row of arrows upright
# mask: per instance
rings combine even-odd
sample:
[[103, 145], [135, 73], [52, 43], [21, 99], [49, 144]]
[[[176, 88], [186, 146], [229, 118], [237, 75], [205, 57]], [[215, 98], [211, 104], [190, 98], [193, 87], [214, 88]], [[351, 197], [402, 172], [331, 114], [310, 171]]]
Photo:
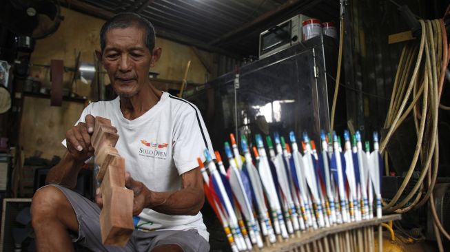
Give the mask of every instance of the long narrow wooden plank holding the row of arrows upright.
[[267, 247], [263, 249], [264, 252], [269, 251], [293, 251], [294, 249], [310, 244], [311, 242], [314, 242], [316, 240], [322, 239], [325, 236], [333, 235], [336, 233], [341, 233], [353, 229], [361, 229], [363, 227], [372, 227], [377, 226], [378, 224], [381, 224], [382, 222], [389, 222], [391, 220], [400, 220], [401, 215], [400, 214], [392, 214], [389, 216], [382, 216], [382, 218], [373, 218], [371, 220], [362, 220], [360, 222], [350, 222], [345, 224], [338, 224], [333, 227], [328, 227], [325, 229], [316, 229], [313, 231], [305, 231], [301, 233], [300, 238], [294, 238], [286, 240], [283, 243], [277, 243], [275, 246]]

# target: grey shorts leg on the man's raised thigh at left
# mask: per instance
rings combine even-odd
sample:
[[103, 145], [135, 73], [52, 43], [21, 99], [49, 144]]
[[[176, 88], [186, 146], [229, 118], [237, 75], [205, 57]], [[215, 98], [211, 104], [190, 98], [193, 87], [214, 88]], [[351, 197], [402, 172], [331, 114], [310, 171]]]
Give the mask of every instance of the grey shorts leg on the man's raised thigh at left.
[[[57, 187], [66, 198], [68, 198], [72, 208], [74, 209], [76, 220], [78, 220], [78, 233], [72, 235], [72, 242], [76, 242], [81, 246], [92, 251], [134, 251], [131, 241], [125, 247], [108, 246], [101, 243], [100, 231], [100, 209], [94, 202], [84, 198], [75, 191], [59, 185], [48, 185], [48, 187]], [[131, 239], [130, 239], [131, 240]]]

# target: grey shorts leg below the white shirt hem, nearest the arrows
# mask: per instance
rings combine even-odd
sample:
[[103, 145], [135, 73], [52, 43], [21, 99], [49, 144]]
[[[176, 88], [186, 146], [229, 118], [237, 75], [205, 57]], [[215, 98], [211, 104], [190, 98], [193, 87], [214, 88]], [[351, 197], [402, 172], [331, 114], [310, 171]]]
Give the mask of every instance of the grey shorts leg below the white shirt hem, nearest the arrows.
[[177, 244], [185, 252], [209, 251], [209, 243], [195, 229], [136, 231], [133, 238], [136, 251], [152, 251], [156, 246], [165, 244]]

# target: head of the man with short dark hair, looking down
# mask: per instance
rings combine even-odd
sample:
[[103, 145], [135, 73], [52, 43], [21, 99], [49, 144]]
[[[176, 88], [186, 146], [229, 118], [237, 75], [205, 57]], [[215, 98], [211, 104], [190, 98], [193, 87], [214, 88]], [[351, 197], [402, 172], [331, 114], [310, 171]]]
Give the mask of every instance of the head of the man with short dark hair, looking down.
[[101, 28], [101, 52], [96, 51], [96, 56], [119, 96], [134, 96], [148, 85], [150, 67], [161, 55], [154, 41], [152, 23], [134, 13], [117, 14]]

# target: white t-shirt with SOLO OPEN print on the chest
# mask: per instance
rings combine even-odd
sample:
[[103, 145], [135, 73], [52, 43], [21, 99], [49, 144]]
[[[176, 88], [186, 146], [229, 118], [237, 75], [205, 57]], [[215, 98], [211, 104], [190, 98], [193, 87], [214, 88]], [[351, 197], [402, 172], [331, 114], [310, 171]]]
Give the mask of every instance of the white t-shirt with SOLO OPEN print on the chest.
[[[154, 107], [134, 120], [123, 117], [119, 97], [113, 101], [90, 103], [76, 124], [84, 122], [88, 114], [111, 120], [119, 134], [116, 149], [125, 158], [126, 171], [152, 191], [181, 189], [181, 174], [198, 167], [198, 157], [205, 161], [205, 149], [209, 149], [214, 157], [209, 134], [197, 107], [167, 92], [163, 92]], [[144, 230], [197, 229], [205, 240], [209, 238], [201, 213], [171, 216], [143, 209], [139, 217], [134, 217], [134, 224]]]

